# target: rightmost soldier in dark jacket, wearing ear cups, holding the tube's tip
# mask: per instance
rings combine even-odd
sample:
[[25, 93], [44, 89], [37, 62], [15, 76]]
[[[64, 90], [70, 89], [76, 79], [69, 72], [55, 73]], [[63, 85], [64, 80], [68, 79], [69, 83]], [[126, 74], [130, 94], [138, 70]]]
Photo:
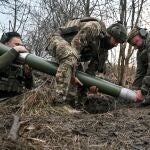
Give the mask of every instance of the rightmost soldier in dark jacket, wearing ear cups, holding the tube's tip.
[[140, 27], [135, 27], [128, 35], [128, 42], [137, 51], [137, 71], [133, 82], [136, 90], [136, 101], [150, 104], [150, 33]]

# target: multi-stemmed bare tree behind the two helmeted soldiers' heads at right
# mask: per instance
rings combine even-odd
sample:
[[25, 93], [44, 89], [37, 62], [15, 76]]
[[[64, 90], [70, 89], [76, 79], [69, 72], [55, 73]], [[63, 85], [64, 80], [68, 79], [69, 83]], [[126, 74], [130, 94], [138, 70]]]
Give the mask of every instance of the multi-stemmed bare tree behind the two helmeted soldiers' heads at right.
[[[127, 4], [129, 3], [127, 2], [127, 0], [120, 0], [120, 20], [123, 22], [126, 28], [128, 24], [128, 30], [131, 30], [139, 23], [142, 8], [145, 2], [146, 1], [144, 0], [132, 0], [131, 5], [129, 5], [130, 9], [128, 11]], [[118, 83], [120, 85], [125, 85], [129, 61], [134, 51], [131, 46], [127, 46], [127, 43], [120, 46], [118, 59]], [[127, 53], [126, 55], [125, 52]]]

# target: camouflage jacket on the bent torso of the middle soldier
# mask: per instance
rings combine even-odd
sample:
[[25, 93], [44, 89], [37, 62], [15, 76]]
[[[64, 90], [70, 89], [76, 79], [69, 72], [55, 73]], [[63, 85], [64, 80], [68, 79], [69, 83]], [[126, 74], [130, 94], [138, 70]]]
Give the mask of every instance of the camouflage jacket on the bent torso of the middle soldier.
[[101, 38], [106, 34], [106, 27], [100, 21], [86, 21], [76, 19], [68, 22], [65, 27], [71, 27], [72, 24], [78, 24], [78, 32], [68, 37], [63, 35], [80, 56], [80, 62], [89, 61], [87, 73], [95, 75], [96, 71], [104, 72], [105, 61], [108, 57], [108, 50], [101, 46]]

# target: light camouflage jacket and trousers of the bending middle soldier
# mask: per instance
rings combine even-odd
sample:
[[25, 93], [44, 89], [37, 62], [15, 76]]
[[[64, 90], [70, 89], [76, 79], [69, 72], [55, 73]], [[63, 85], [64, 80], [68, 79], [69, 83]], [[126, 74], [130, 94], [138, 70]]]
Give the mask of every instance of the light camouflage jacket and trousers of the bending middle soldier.
[[[67, 23], [67, 27], [71, 27], [72, 23], [72, 21]], [[88, 72], [94, 75], [98, 71], [98, 55], [101, 49], [100, 36], [102, 32], [106, 32], [106, 28], [104, 24], [101, 26], [98, 21], [81, 22], [76, 20], [75, 25], [80, 30], [70, 42], [59, 33], [54, 34], [49, 40], [48, 50], [53, 51], [53, 55], [60, 64], [56, 73], [55, 101], [58, 102], [65, 101], [71, 77], [74, 76], [79, 62], [92, 59], [95, 65], [93, 67], [89, 65]], [[71, 34], [73, 35], [73, 33]], [[89, 58], [81, 60], [81, 57], [87, 53], [90, 54]], [[93, 64], [93, 61], [91, 61], [91, 64]]]

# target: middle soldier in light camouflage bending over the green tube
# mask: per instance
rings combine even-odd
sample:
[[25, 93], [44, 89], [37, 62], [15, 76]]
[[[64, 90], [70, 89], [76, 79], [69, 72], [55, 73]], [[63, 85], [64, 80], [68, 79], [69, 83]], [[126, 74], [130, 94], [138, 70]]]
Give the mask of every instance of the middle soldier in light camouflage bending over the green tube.
[[[127, 35], [119, 22], [106, 29], [103, 22], [95, 18], [73, 19], [51, 36], [48, 50], [54, 52], [59, 62], [56, 73], [56, 104], [66, 101], [70, 81], [79, 85], [79, 97], [85, 95], [86, 87], [75, 77], [75, 71], [81, 67], [81, 62], [89, 61], [88, 74], [104, 72], [108, 50], [124, 43]], [[81, 69], [82, 70], [82, 69]], [[96, 86], [89, 87], [96, 91]]]

